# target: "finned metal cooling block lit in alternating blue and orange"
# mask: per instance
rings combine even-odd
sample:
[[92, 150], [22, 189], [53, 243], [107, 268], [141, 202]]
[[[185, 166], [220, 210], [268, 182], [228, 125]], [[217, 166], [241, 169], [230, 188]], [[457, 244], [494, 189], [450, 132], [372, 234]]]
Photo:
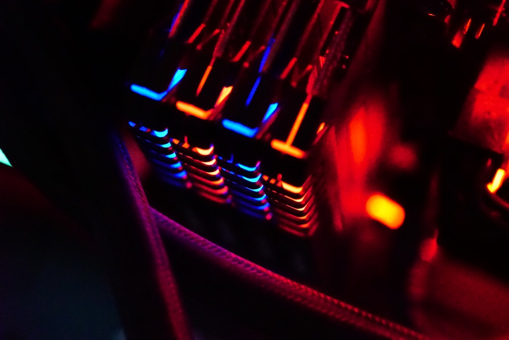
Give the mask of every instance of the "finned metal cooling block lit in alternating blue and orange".
[[317, 196], [335, 185], [324, 183], [331, 176], [317, 151], [337, 118], [327, 117], [327, 101], [375, 8], [181, 1], [152, 32], [128, 84], [129, 125], [157, 176], [312, 234], [323, 210]]

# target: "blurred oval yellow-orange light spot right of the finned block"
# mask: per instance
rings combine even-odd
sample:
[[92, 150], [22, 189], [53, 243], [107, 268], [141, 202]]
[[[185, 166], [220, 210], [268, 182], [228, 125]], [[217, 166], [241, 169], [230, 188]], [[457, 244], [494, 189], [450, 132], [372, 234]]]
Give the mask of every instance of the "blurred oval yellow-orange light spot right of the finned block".
[[379, 193], [367, 200], [366, 212], [389, 229], [400, 228], [405, 220], [405, 210], [398, 203]]

